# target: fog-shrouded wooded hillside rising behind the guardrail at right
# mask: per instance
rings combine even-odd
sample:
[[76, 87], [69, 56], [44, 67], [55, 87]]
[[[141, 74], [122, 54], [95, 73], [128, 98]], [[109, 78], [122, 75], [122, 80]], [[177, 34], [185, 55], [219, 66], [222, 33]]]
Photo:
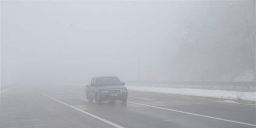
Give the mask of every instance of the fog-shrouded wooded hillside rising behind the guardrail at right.
[[180, 23], [171, 68], [163, 67], [167, 78], [232, 81], [246, 73], [246, 80], [254, 80], [255, 5], [255, 1], [210, 1], [198, 7], [204, 11], [191, 10]]

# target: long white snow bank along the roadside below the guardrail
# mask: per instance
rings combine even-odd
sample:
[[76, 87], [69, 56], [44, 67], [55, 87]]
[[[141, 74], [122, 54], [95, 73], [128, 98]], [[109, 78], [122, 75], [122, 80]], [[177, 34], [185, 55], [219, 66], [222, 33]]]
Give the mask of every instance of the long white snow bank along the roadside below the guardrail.
[[192, 95], [200, 97], [214, 97], [223, 99], [240, 99], [256, 101], [256, 92], [239, 92], [239, 91], [225, 91], [225, 90], [206, 90], [206, 89], [194, 89], [194, 88], [164, 88], [164, 87], [152, 87], [152, 86], [133, 86], [127, 85], [128, 90], [144, 91], [144, 92], [156, 92], [156, 93], [168, 93], [178, 95]]

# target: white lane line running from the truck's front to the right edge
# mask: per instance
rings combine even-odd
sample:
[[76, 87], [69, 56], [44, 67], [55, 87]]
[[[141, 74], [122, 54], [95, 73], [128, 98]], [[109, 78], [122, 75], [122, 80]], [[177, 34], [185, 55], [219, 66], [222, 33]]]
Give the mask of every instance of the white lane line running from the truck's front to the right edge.
[[164, 108], [164, 107], [150, 106], [150, 105], [147, 105], [147, 104], [140, 104], [140, 103], [135, 103], [135, 102], [130, 102], [130, 101], [127, 101], [127, 102], [133, 103], [133, 104], [142, 105], [142, 106], [147, 106], [147, 107], [154, 107], [154, 108], [157, 108], [157, 109], [164, 109], [164, 110], [169, 110], [169, 111], [173, 111], [173, 112], [180, 112], [180, 113], [190, 114], [190, 115], [194, 115], [194, 116], [201, 116], [201, 117], [205, 117], [205, 118], [218, 119], [218, 120], [221, 120], [221, 121], [238, 123], [238, 124], [242, 124], [242, 125], [249, 125], [249, 126], [254, 126], [254, 127], [256, 126], [254, 124], [243, 123], [243, 122], [239, 122], [239, 121], [232, 121], [232, 120], [229, 120], [229, 119], [215, 118], [215, 117], [212, 117], [212, 116], [205, 116], [205, 115], [201, 115], [201, 114], [195, 114], [195, 113], [190, 113], [190, 112], [178, 111], [178, 110], [174, 110], [174, 109], [167, 109], [167, 108]]

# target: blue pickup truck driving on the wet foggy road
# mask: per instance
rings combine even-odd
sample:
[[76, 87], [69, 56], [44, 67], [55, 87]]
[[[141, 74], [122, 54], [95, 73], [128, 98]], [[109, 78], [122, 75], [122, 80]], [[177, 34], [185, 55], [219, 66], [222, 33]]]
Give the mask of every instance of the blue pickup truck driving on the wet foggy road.
[[94, 77], [91, 84], [86, 85], [85, 92], [89, 102], [93, 99], [97, 104], [107, 100], [121, 100], [126, 104], [128, 92], [124, 85], [125, 83], [121, 83], [116, 76]]

